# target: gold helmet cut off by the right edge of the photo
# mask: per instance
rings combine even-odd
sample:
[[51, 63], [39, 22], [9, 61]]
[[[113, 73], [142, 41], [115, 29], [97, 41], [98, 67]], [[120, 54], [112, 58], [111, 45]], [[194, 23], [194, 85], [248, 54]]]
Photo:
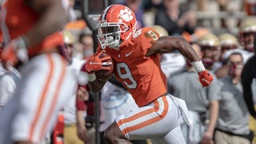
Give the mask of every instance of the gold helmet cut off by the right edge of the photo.
[[241, 25], [239, 26], [240, 33], [250, 33], [256, 32], [256, 19], [248, 18], [242, 21]]

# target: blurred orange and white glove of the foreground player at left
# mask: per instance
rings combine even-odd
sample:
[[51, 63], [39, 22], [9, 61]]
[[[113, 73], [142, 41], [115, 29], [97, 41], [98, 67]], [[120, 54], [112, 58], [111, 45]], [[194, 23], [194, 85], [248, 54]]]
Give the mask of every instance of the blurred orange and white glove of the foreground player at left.
[[6, 45], [1, 54], [2, 65], [10, 70], [18, 61], [26, 63], [29, 61], [26, 43], [22, 37], [15, 38], [8, 45]]

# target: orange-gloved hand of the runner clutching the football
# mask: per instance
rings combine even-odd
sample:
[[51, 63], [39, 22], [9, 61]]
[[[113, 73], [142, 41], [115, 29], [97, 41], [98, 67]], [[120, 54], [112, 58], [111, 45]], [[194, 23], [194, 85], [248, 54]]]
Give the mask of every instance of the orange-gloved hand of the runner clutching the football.
[[110, 60], [111, 57], [107, 56], [102, 58], [103, 53], [106, 53], [106, 50], [101, 50], [90, 57], [89, 62], [86, 63], [86, 71], [88, 73], [93, 73], [98, 70], [110, 70], [110, 64], [106, 61]]

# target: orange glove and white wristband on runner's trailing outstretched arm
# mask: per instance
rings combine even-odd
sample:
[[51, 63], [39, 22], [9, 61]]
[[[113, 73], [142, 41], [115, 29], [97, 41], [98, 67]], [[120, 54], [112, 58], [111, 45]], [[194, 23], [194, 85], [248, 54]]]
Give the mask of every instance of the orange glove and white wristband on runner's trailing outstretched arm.
[[208, 70], [206, 70], [205, 66], [202, 64], [202, 61], [191, 62], [191, 64], [198, 72], [199, 82], [202, 84], [202, 87], [210, 86], [210, 83], [214, 80], [214, 77], [209, 73]]

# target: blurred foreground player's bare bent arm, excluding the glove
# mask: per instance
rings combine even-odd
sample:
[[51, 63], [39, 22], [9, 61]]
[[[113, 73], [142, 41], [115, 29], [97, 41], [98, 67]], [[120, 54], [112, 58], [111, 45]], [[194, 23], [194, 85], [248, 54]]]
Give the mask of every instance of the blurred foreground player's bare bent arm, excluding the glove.
[[47, 35], [62, 30], [68, 14], [62, 0], [24, 0], [40, 15], [38, 22], [25, 34], [26, 47], [34, 46]]

